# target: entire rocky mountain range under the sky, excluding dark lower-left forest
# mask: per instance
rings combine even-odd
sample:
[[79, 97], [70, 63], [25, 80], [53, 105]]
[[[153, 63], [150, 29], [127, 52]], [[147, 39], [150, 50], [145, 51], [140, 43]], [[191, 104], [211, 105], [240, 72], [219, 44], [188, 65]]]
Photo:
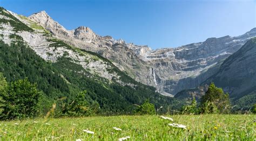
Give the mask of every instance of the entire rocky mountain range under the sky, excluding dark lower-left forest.
[[[170, 98], [173, 96], [180, 100], [189, 99], [191, 91], [200, 95], [210, 82], [223, 87], [233, 101], [239, 103], [239, 99], [245, 98], [250, 99], [250, 103], [255, 102], [256, 28], [237, 37], [208, 38], [177, 48], [151, 50], [146, 45], [99, 36], [85, 26], [66, 30], [45, 11], [25, 17], [2, 9], [0, 18], [0, 38], [4, 44], [11, 46], [21, 37], [19, 40], [56, 67], [66, 83], [74, 84], [80, 90], [86, 86], [77, 85], [83, 84], [75, 82], [75, 77], [68, 79], [69, 76], [81, 75], [93, 82], [96, 80], [116, 95], [131, 90], [126, 96], [120, 96], [130, 104], [141, 103], [145, 98], [151, 98], [159, 106], [161, 102], [173, 102], [175, 98]], [[14, 34], [16, 36], [10, 38]], [[6, 75], [6, 71], [2, 72]], [[114, 89], [113, 83], [126, 92]], [[134, 96], [132, 100], [129, 100], [130, 94]], [[139, 99], [134, 101], [137, 95], [140, 95]]]

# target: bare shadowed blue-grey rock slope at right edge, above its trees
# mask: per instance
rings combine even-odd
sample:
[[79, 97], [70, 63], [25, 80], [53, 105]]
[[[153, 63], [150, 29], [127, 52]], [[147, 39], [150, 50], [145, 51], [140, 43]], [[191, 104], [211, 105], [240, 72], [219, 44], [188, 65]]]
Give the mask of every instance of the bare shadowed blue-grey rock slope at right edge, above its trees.
[[[216, 74], [206, 82], [222, 87], [235, 101], [256, 90], [256, 38], [253, 38], [228, 57]], [[253, 103], [256, 103], [254, 97]], [[249, 103], [248, 103], [249, 104]]]

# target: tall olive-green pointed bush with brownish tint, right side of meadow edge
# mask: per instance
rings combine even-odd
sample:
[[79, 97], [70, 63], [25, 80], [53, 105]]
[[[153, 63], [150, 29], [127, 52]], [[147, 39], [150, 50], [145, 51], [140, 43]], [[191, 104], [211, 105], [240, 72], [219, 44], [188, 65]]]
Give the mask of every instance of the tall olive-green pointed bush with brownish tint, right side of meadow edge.
[[201, 98], [201, 112], [216, 113], [227, 112], [230, 107], [230, 99], [228, 94], [224, 94], [223, 89], [215, 87], [211, 83], [205, 95]]

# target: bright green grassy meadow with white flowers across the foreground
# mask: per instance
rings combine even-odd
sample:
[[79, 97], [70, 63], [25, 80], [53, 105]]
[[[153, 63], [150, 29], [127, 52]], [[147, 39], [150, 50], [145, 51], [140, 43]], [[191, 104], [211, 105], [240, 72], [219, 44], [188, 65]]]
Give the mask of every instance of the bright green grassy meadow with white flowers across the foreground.
[[[255, 140], [256, 115], [29, 119], [0, 122], [0, 140]], [[168, 125], [178, 123], [186, 129]], [[115, 130], [113, 127], [122, 130]], [[87, 133], [85, 130], [93, 131]]]

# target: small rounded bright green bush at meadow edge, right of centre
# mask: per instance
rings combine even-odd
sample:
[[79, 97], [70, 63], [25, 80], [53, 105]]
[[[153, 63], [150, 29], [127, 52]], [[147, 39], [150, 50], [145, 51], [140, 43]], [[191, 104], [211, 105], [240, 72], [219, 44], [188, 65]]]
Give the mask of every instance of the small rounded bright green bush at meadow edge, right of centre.
[[137, 108], [136, 113], [139, 115], [155, 115], [156, 108], [154, 107], [154, 104], [150, 103], [149, 100], [146, 100]]

